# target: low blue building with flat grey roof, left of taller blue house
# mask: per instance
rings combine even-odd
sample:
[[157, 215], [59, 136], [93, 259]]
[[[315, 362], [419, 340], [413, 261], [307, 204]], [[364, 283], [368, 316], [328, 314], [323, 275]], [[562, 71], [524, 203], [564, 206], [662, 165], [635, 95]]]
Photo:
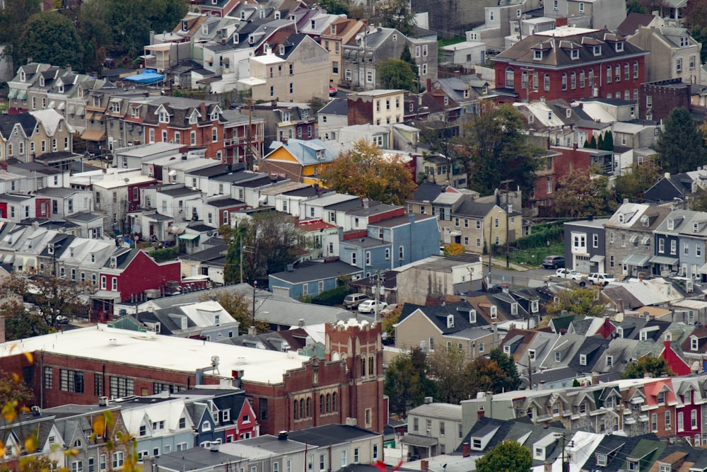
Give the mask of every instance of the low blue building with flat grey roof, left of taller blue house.
[[271, 292], [288, 297], [315, 297], [325, 290], [336, 288], [339, 277], [357, 279], [362, 273], [359, 267], [341, 260], [308, 260], [296, 269], [270, 274], [268, 284]]

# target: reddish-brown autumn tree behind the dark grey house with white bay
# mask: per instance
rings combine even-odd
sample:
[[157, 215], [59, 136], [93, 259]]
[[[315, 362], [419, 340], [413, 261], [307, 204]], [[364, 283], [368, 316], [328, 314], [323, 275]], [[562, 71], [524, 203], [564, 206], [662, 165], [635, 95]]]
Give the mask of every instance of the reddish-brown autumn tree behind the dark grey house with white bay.
[[558, 182], [553, 198], [559, 217], [584, 218], [608, 214], [616, 202], [610, 198], [608, 178], [598, 168], [575, 169]]

